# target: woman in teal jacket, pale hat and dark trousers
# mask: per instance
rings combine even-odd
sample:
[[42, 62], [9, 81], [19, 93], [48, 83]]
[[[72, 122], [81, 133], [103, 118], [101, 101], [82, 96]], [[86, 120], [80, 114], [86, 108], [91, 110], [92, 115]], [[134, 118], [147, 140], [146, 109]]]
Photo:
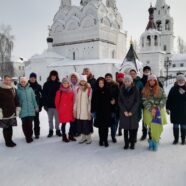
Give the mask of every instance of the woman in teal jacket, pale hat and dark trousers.
[[26, 142], [31, 143], [33, 141], [32, 122], [35, 112], [39, 112], [39, 108], [36, 102], [34, 91], [29, 86], [28, 79], [26, 77], [20, 78], [17, 95], [21, 107], [19, 117], [22, 120], [23, 133], [25, 135]]

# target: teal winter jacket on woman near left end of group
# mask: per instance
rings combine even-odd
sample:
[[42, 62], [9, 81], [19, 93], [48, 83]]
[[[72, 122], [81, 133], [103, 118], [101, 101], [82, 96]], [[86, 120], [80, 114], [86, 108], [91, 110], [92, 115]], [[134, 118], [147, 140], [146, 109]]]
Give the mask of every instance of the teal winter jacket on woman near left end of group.
[[27, 84], [26, 87], [18, 85], [17, 95], [21, 107], [20, 118], [34, 117], [38, 105], [33, 89]]

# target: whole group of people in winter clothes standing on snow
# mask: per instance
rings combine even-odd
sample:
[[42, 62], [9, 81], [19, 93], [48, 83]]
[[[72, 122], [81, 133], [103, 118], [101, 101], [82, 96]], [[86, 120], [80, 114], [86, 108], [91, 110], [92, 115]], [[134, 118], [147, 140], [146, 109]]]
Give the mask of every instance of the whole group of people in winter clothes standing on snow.
[[36, 139], [40, 137], [39, 113], [43, 107], [48, 115], [49, 138], [54, 135], [55, 128], [56, 135], [65, 143], [81, 136], [80, 144], [91, 144], [94, 126], [98, 128], [99, 145], [108, 147], [110, 128], [113, 143], [117, 142], [117, 131], [118, 135], [124, 131], [126, 150], [135, 149], [142, 119], [141, 140], [148, 135], [148, 148], [156, 151], [163, 126], [167, 124], [167, 113], [173, 123], [173, 144], [179, 142], [179, 127], [181, 143], [185, 144], [185, 101], [186, 79], [183, 74], [177, 76], [166, 98], [161, 83], [151, 74], [149, 66], [143, 68], [142, 78], [131, 69], [129, 74], [117, 73], [116, 81], [110, 73], [96, 80], [88, 68], [82, 74], [72, 73], [62, 81], [57, 71], [51, 71], [43, 88], [35, 73], [31, 73], [29, 79], [21, 77], [16, 88], [12, 85], [12, 78], [6, 75], [0, 85], [0, 127], [3, 128], [5, 145], [14, 147], [12, 127], [17, 126], [16, 117], [20, 117], [26, 142], [31, 143], [33, 133]]

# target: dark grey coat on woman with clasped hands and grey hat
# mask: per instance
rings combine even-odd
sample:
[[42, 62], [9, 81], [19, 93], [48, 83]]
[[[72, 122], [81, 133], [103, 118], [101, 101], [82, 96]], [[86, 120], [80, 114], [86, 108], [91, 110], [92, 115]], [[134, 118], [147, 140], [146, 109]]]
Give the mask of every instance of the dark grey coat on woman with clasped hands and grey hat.
[[[130, 90], [122, 87], [119, 95], [120, 107], [120, 127], [125, 130], [138, 129], [138, 116], [140, 94], [136, 86], [132, 86]], [[131, 112], [131, 117], [126, 117], [124, 112]]]

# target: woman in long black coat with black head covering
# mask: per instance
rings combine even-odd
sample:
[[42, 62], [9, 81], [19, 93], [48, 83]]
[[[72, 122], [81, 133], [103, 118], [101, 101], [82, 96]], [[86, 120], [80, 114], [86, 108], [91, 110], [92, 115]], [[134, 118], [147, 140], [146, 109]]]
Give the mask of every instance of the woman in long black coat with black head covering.
[[103, 77], [98, 78], [92, 95], [91, 111], [95, 116], [94, 126], [99, 129], [99, 145], [108, 147], [108, 128], [111, 126], [112, 98]]

